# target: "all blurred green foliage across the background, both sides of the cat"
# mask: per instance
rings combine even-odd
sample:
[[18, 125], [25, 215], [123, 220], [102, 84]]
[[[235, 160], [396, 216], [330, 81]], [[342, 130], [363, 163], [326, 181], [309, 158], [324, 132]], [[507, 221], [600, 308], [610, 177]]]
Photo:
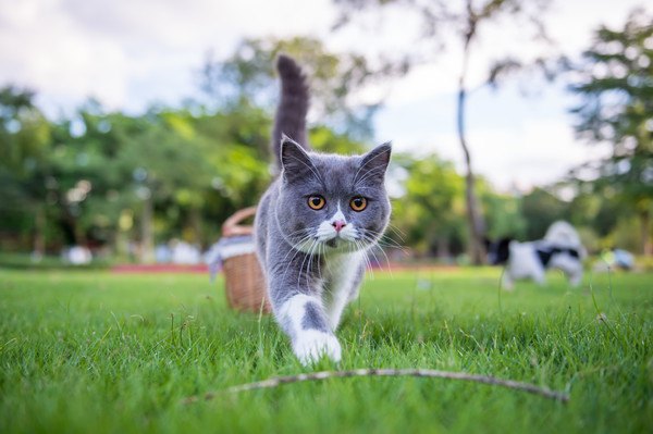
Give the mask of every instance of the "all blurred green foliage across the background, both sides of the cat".
[[[468, 13], [484, 20], [517, 12], [513, 9], [522, 2], [484, 4]], [[424, 17], [430, 18], [434, 16]], [[463, 15], [448, 18], [465, 24]], [[650, 57], [650, 28], [638, 23], [631, 18], [624, 33], [600, 32], [586, 66], [588, 74], [596, 65], [612, 72], [611, 65], [618, 62], [630, 62], [619, 67], [639, 70], [630, 78], [597, 79], [590, 74], [575, 88], [589, 101], [579, 115], [592, 121], [579, 132], [593, 139], [620, 137], [614, 158], [604, 162], [607, 172], [593, 183], [597, 188], [581, 186], [566, 202], [546, 189], [522, 198], [497, 194], [477, 179], [473, 186], [491, 238], [535, 239], [558, 219], [574, 223], [592, 249], [631, 247], [632, 239], [641, 238], [628, 227], [633, 215], [651, 209], [646, 174], [653, 170], [653, 121], [650, 63], [642, 60]], [[615, 44], [624, 52], [601, 51]], [[202, 82], [206, 106], [195, 101], [181, 109], [159, 107], [128, 115], [106, 112], [89, 100], [74, 115], [53, 122], [35, 107], [33, 92], [9, 86], [0, 89], [0, 247], [58, 253], [79, 244], [124, 256], [130, 240], [151, 245], [182, 237], [204, 246], [214, 241], [221, 223], [256, 204], [269, 184], [276, 100], [273, 64], [282, 51], [297, 57], [311, 80], [309, 117], [320, 120], [309, 132], [313, 147], [343, 154], [365, 152], [368, 146], [361, 139], [370, 136], [378, 106], [352, 107], [352, 95], [405, 69], [402, 62], [390, 67], [355, 53], [335, 54], [312, 38], [245, 40], [231, 58], [209, 59]], [[587, 114], [591, 108], [596, 109], [593, 115]], [[596, 129], [600, 119], [607, 126]], [[591, 136], [596, 132], [604, 136]], [[636, 182], [634, 175], [643, 182]], [[465, 251], [465, 181], [449, 162], [436, 156], [395, 154], [389, 182], [395, 196], [390, 244], [402, 244], [419, 256]]]

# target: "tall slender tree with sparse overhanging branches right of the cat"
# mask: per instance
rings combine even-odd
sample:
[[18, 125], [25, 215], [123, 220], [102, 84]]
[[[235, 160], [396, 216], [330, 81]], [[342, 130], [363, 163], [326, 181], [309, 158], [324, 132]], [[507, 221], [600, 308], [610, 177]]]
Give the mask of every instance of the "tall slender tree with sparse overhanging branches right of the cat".
[[[467, 207], [467, 219], [469, 227], [469, 250], [475, 264], [484, 262], [485, 223], [482, 216], [478, 195], [476, 193], [476, 176], [472, 169], [471, 152], [466, 137], [465, 106], [468, 97], [468, 71], [469, 60], [473, 45], [480, 38], [480, 29], [496, 23], [504, 17], [509, 17], [517, 24], [518, 20], [525, 18], [522, 28], [534, 29], [537, 39], [545, 39], [544, 27], [541, 22], [542, 12], [550, 3], [549, 0], [463, 0], [463, 2], [441, 2], [431, 0], [334, 0], [343, 11], [336, 27], [350, 21], [355, 12], [365, 9], [382, 8], [389, 5], [402, 5], [417, 12], [421, 16], [422, 32], [420, 40], [435, 41], [436, 49], [441, 48], [444, 40], [443, 30], [453, 28], [456, 40], [461, 50], [461, 64], [458, 75], [456, 124], [458, 139], [465, 160], [465, 198]], [[419, 46], [418, 44], [416, 46]], [[404, 57], [401, 62], [415, 57]], [[535, 60], [542, 63], [542, 60]], [[489, 74], [489, 82], [496, 83], [498, 75], [507, 71], [521, 67], [522, 62], [513, 58], [504, 58], [496, 61]]]

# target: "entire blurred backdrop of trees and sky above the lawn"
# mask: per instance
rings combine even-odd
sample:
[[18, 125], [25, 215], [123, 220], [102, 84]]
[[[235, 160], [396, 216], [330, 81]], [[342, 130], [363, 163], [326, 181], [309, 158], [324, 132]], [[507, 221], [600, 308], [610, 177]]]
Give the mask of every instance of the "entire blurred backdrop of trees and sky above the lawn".
[[[653, 264], [653, 8], [0, 0], [0, 264], [201, 263], [269, 184], [274, 58], [312, 146], [392, 140], [392, 262], [567, 220]], [[646, 259], [646, 257], [649, 259]]]

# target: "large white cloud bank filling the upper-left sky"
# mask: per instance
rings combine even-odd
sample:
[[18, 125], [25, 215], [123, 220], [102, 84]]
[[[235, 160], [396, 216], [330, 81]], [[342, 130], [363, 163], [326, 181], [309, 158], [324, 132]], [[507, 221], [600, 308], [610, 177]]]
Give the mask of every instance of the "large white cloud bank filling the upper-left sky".
[[209, 49], [225, 55], [245, 36], [321, 32], [329, 4], [0, 0], [0, 83], [33, 87], [69, 109], [89, 96], [132, 111], [174, 103], [194, 89], [193, 71]]

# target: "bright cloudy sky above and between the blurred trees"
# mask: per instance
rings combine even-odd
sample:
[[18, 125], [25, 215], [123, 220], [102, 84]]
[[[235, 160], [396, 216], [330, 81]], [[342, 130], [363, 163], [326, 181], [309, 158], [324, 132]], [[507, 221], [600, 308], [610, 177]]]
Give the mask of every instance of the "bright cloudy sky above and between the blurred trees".
[[[649, 3], [650, 4], [650, 3]], [[638, 0], [557, 0], [544, 15], [555, 50], [575, 57], [602, 24], [618, 28]], [[651, 9], [651, 8], [649, 8]], [[245, 37], [321, 38], [334, 51], [402, 52], [423, 44], [405, 11], [357, 20], [331, 32], [337, 10], [329, 0], [0, 0], [0, 86], [37, 91], [56, 119], [87, 98], [138, 113], [151, 103], [180, 104], [196, 94], [207, 53], [226, 57]], [[606, 152], [574, 136], [564, 85], [535, 77], [481, 86], [492, 59], [532, 57], [522, 28], [502, 22], [483, 28], [469, 64], [467, 131], [472, 165], [501, 190], [527, 191]], [[455, 129], [460, 50], [447, 40], [432, 63], [382, 86], [360, 89], [360, 101], [384, 97], [375, 139], [418, 154], [436, 152], [463, 170]]]

